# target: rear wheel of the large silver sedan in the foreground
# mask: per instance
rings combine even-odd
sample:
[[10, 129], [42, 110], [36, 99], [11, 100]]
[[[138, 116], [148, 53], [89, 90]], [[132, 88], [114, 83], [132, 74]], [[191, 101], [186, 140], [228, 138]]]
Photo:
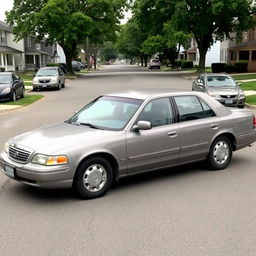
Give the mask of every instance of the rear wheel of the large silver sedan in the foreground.
[[217, 137], [211, 145], [208, 162], [212, 170], [225, 169], [232, 159], [232, 145], [225, 136]]

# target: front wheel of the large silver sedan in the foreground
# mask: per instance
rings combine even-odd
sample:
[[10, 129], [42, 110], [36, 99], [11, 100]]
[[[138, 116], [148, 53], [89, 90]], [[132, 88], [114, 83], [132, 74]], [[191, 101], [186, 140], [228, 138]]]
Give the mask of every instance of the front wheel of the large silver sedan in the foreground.
[[73, 187], [83, 199], [101, 197], [110, 188], [113, 170], [102, 157], [92, 157], [82, 162], [76, 171]]

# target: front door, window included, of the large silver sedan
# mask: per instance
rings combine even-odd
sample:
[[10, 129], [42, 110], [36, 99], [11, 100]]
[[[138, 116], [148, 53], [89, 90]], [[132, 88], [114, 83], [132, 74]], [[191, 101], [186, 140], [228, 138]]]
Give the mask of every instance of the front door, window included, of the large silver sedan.
[[179, 162], [179, 125], [174, 122], [169, 98], [150, 101], [138, 121], [151, 123], [150, 130], [126, 132], [128, 173], [142, 172]]

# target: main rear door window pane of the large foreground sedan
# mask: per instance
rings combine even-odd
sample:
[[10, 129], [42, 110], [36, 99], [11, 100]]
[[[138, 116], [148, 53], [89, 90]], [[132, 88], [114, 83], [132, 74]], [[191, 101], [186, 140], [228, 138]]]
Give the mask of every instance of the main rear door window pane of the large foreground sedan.
[[180, 121], [190, 121], [204, 118], [204, 110], [196, 96], [177, 96], [174, 97], [177, 104]]

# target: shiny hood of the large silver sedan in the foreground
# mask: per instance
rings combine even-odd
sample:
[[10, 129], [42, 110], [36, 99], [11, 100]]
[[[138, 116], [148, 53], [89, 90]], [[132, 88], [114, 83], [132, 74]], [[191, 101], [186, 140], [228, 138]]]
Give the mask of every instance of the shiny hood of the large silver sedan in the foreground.
[[9, 142], [16, 147], [42, 154], [61, 154], [66, 149], [79, 145], [96, 145], [116, 136], [115, 131], [93, 129], [84, 125], [59, 123], [12, 138]]

